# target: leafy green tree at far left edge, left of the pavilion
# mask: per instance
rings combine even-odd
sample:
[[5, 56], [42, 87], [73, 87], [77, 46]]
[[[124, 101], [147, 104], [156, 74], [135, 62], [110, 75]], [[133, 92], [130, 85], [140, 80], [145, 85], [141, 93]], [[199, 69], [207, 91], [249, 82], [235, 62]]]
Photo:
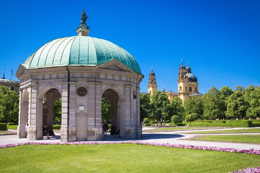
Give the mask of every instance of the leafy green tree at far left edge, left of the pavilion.
[[0, 122], [16, 122], [19, 113], [19, 94], [0, 86]]

